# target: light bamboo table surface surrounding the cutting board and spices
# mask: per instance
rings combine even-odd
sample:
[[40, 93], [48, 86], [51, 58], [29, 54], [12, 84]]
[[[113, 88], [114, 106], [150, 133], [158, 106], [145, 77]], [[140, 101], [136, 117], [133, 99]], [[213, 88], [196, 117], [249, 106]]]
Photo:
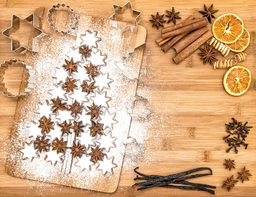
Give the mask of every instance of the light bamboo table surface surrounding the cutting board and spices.
[[[52, 0], [0, 0], [0, 32], [11, 24], [11, 15], [20, 17], [34, 13], [38, 7], [51, 7], [58, 3]], [[112, 4], [123, 5], [126, 1], [115, 0], [66, 0], [74, 10], [88, 13], [92, 16], [108, 18], [112, 14]], [[223, 1], [212, 0], [207, 6], [214, 4], [214, 9], [219, 9], [217, 17], [224, 13], [235, 13], [243, 19], [245, 27], [251, 34], [251, 44], [247, 48], [248, 54], [245, 62], [240, 65], [247, 66], [253, 74], [252, 85], [249, 91], [240, 97], [229, 96], [222, 85], [222, 79], [226, 70], [213, 70], [209, 64], [204, 65], [197, 53], [193, 53], [179, 65], [171, 60], [174, 52], [162, 52], [155, 43], [160, 35], [160, 29], [151, 27], [150, 15], [164, 14], [165, 10], [180, 11], [182, 19], [191, 13], [197, 13], [203, 9], [205, 1], [201, 0], [132, 0], [134, 9], [141, 11], [139, 24], [146, 27], [148, 50], [150, 56], [146, 64], [147, 80], [139, 81], [137, 94], [144, 94], [149, 90], [148, 99], [153, 107], [152, 115], [154, 124], [148, 132], [151, 136], [145, 144], [145, 156], [137, 163], [141, 172], [148, 174], [167, 175], [192, 169], [194, 167], [207, 166], [213, 169], [213, 175], [202, 177], [196, 182], [216, 185], [218, 196], [256, 196], [256, 132], [253, 129], [247, 139], [247, 150], [239, 149], [238, 154], [233, 151], [226, 153], [227, 144], [222, 140], [225, 136], [225, 123], [235, 117], [240, 121], [248, 121], [248, 125], [256, 128], [256, 0], [250, 1]], [[180, 20], [177, 20], [178, 22]], [[209, 25], [210, 29], [210, 25]], [[198, 50], [196, 51], [198, 52]], [[230, 58], [234, 55], [228, 56]], [[10, 41], [0, 35], [0, 62], [10, 58], [22, 59], [24, 54], [13, 53], [10, 49]], [[220, 59], [224, 59], [221, 56]], [[5, 173], [5, 158], [8, 147], [9, 134], [13, 125], [17, 99], [0, 95], [0, 196], [200, 196], [208, 193], [199, 191], [186, 191], [168, 188], [153, 188], [137, 191], [132, 188], [134, 173], [124, 171], [121, 173], [119, 187], [113, 194], [98, 193], [95, 191], [81, 190], [55, 184], [45, 184], [11, 177]], [[8, 105], [8, 109], [7, 109]], [[152, 120], [151, 117], [151, 120]], [[158, 119], [159, 120], [158, 120]], [[246, 140], [247, 140], [246, 139]], [[151, 160], [148, 161], [148, 157]], [[155, 161], [153, 161], [153, 159]], [[225, 170], [224, 159], [236, 160], [236, 169], [231, 172]], [[222, 181], [238, 171], [243, 166], [252, 173], [250, 181], [238, 182], [230, 192], [221, 188]], [[208, 195], [210, 196], [210, 195]]]

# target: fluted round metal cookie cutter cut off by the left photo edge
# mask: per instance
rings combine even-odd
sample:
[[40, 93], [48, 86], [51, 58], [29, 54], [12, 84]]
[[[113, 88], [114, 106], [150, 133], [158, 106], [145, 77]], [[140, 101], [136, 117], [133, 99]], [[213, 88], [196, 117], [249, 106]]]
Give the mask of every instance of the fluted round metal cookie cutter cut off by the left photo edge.
[[[12, 65], [12, 63], [16, 63], [16, 62], [20, 62], [24, 65], [24, 68], [27, 69], [28, 71], [29, 78], [28, 78], [28, 83], [25, 90], [23, 92], [20, 92], [18, 95], [13, 95], [10, 92], [8, 92], [7, 88], [5, 88], [4, 86], [4, 74], [5, 74], [5, 70], [7, 70], [9, 66]], [[2, 92], [2, 94], [9, 97], [24, 96], [29, 94], [29, 92], [33, 90], [35, 85], [36, 85], [36, 71], [32, 66], [28, 66], [23, 61], [20, 61], [18, 59], [9, 59], [8, 61], [4, 61], [4, 63], [0, 64], [0, 92]]]

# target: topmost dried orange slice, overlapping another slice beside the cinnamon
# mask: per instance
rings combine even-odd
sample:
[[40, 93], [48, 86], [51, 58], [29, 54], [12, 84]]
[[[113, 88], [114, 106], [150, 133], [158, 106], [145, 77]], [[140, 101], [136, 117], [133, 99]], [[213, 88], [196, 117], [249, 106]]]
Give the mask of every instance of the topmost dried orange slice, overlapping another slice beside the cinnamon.
[[244, 23], [235, 14], [224, 14], [217, 18], [212, 25], [212, 32], [220, 42], [231, 44], [243, 34]]

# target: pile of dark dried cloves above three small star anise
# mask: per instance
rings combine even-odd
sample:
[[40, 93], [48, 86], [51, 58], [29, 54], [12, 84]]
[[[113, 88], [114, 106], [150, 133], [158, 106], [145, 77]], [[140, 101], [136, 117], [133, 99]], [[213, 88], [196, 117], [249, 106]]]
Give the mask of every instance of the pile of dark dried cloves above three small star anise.
[[[245, 138], [247, 137], [247, 134], [249, 134], [249, 131], [252, 127], [246, 126], [248, 122], [246, 122], [244, 125], [242, 122], [238, 122], [235, 118], [231, 118], [233, 122], [229, 124], [225, 124], [227, 127], [227, 133], [229, 133], [228, 136], [225, 136], [223, 140], [229, 144], [229, 149], [227, 149], [227, 153], [234, 148], [235, 153], [238, 153], [237, 147], [240, 147], [240, 145], [243, 145], [245, 149], [247, 149], [248, 144], [246, 144]], [[232, 131], [232, 132], [231, 132]], [[234, 135], [237, 135], [234, 136]], [[230, 137], [232, 136], [232, 137]]]

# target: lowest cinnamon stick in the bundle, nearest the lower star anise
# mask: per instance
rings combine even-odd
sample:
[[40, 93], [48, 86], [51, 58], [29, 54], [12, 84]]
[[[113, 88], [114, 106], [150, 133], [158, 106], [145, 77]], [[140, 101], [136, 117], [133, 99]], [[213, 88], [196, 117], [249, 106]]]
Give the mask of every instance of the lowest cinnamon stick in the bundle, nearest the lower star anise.
[[180, 53], [175, 55], [173, 57], [173, 60], [175, 61], [176, 64], [180, 63], [183, 59], [191, 55], [197, 48], [199, 48], [202, 44], [207, 42], [212, 37], [212, 33], [210, 31], [207, 31], [203, 35], [201, 35], [197, 40], [192, 42], [189, 46], [184, 48]]

